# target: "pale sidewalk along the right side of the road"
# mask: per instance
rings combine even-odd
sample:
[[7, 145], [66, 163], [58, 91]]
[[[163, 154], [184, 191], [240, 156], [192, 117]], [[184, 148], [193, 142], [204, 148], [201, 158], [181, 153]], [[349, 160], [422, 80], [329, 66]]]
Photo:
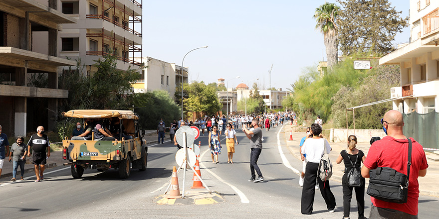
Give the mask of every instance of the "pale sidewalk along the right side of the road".
[[[290, 138], [290, 130], [293, 131], [292, 141], [288, 140]], [[286, 124], [283, 129], [285, 135], [285, 141], [286, 144], [288, 145], [288, 149], [290, 150], [291, 154], [294, 155], [294, 157], [296, 157], [298, 160], [301, 161], [299, 144], [300, 144], [300, 139], [302, 139], [302, 137], [305, 136], [305, 131], [301, 130], [299, 132], [299, 129], [296, 130], [297, 132], [294, 132], [294, 127], [288, 124]], [[337, 160], [337, 157], [339, 156], [340, 152], [347, 148], [347, 143], [329, 142], [329, 145], [331, 145], [332, 147], [332, 151], [329, 154], [329, 159], [332, 162], [332, 172], [333, 172], [331, 180], [335, 180], [341, 183], [344, 174], [344, 164], [343, 162], [337, 164], [335, 161]], [[367, 152], [369, 151], [369, 147], [370, 147], [369, 143], [357, 144], [357, 148], [362, 150], [366, 154], [366, 156], [367, 156]], [[427, 162], [429, 164], [429, 168], [427, 169], [427, 175], [425, 177], [418, 178], [420, 195], [439, 197], [439, 187], [436, 186], [439, 177], [439, 155], [430, 152], [426, 152], [426, 154], [427, 154]], [[298, 183], [299, 181], [297, 181], [297, 184]], [[366, 189], [368, 184], [369, 184], [369, 180], [366, 179]]]

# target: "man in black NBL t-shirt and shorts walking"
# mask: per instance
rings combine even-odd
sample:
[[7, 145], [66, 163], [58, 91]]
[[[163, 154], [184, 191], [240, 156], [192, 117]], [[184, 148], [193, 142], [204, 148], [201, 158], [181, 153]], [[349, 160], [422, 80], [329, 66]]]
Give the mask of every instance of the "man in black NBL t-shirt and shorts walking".
[[30, 157], [30, 148], [33, 150], [32, 163], [35, 166], [35, 183], [44, 179], [44, 165], [47, 162], [46, 159], [50, 157], [50, 143], [49, 138], [44, 134], [44, 127], [38, 126], [38, 128], [36, 128], [36, 132], [36, 134], [30, 136], [29, 142], [27, 142], [28, 157]]

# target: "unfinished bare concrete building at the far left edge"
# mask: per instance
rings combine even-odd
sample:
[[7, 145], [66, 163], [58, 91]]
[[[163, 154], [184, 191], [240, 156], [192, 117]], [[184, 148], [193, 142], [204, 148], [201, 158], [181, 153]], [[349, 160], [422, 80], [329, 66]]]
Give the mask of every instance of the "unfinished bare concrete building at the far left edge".
[[[58, 56], [58, 31], [62, 23], [76, 19], [57, 10], [56, 0], [40, 4], [35, 0], [0, 1], [0, 124], [9, 136], [25, 135], [38, 125], [54, 128], [58, 101], [68, 97], [58, 89], [61, 66], [74, 61]], [[44, 33], [39, 41], [35, 35]], [[36, 48], [44, 47], [44, 52]], [[39, 75], [47, 83], [32, 83]]]

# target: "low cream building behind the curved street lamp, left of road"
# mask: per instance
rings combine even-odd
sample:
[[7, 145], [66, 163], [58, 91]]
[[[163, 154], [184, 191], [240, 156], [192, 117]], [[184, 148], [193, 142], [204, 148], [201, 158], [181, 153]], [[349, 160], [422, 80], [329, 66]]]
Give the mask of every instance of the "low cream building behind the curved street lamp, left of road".
[[136, 57], [135, 61], [145, 64], [145, 68], [142, 69], [142, 78], [132, 84], [135, 93], [165, 90], [172, 99], [175, 99], [175, 92], [181, 88], [182, 80], [184, 83], [189, 81], [189, 69], [175, 63], [152, 57]]

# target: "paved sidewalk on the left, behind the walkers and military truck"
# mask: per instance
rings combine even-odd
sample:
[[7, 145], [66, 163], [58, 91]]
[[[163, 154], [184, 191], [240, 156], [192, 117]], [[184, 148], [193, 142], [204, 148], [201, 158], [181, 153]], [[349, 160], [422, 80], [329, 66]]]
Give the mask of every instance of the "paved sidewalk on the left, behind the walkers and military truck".
[[[157, 143], [157, 131], [155, 130], [147, 130], [147, 134], [143, 137], [146, 140], [146, 144], [155, 144]], [[166, 134], [165, 141], [169, 139], [169, 134]], [[52, 151], [50, 152], [50, 157], [47, 159], [46, 170], [51, 169], [57, 166], [62, 166], [64, 163], [68, 163], [68, 160], [62, 159], [61, 151]], [[26, 164], [24, 165], [24, 173], [33, 173], [33, 164], [32, 164], [32, 156], [26, 156]], [[20, 168], [17, 169], [16, 179], [20, 179]], [[9, 181], [12, 178], [12, 162], [9, 163], [9, 156], [6, 156], [3, 163], [3, 168], [1, 170], [0, 182]]]

